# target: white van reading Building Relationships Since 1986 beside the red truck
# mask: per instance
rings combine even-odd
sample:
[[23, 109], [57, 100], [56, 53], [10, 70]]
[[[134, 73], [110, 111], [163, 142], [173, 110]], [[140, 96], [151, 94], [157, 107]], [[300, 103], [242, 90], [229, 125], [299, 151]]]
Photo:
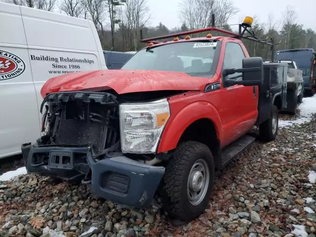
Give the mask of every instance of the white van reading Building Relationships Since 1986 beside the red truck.
[[0, 158], [40, 137], [40, 89], [52, 77], [107, 69], [91, 21], [0, 2]]

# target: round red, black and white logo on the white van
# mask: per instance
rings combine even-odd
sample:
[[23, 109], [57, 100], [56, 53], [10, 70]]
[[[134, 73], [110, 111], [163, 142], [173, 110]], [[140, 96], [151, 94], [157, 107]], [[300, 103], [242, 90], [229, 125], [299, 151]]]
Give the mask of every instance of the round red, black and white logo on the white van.
[[15, 78], [25, 70], [25, 64], [18, 56], [0, 50], [0, 80]]

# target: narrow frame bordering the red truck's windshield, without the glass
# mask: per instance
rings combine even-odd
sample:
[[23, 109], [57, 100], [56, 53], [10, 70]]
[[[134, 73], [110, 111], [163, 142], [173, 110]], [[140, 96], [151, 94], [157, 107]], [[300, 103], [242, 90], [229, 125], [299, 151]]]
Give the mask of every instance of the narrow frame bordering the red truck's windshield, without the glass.
[[[190, 75], [191, 77], [205, 77], [205, 78], [211, 78], [215, 75], [216, 73], [216, 69], [218, 67], [218, 63], [219, 63], [219, 58], [220, 58], [220, 53], [221, 53], [221, 48], [222, 48], [222, 40], [215, 40], [215, 39], [197, 39], [197, 40], [179, 40], [179, 41], [176, 41], [176, 42], [167, 42], [167, 43], [162, 43], [162, 44], [157, 44], [157, 45], [152, 45], [150, 47], [144, 47], [142, 49], [140, 49], [139, 51], [137, 51], [132, 57], [130, 57], [125, 63], [124, 65], [121, 67], [120, 70], [126, 70], [124, 68], [125, 64], [128, 63], [130, 60], [132, 60], [132, 58], [138, 54], [139, 52], [141, 51], [148, 51], [150, 49], [153, 49], [153, 48], [157, 48], [157, 47], [163, 47], [163, 46], [166, 46], [166, 45], [170, 45], [170, 44], [176, 44], [176, 43], [188, 43], [188, 42], [217, 42], [217, 45], [216, 45], [216, 48], [215, 48], [215, 51], [214, 51], [214, 57], [213, 57], [213, 61], [212, 61], [212, 65], [211, 65], [211, 68], [210, 68], [210, 71], [208, 72], [201, 72], [201, 73], [186, 73], [186, 72], [182, 72], [182, 73], [185, 73], [187, 75]], [[137, 70], [137, 69], [127, 69], [127, 70]], [[155, 69], [151, 69], [152, 71], [155, 71]], [[151, 71], [149, 70], [149, 71]], [[159, 71], [159, 70], [157, 70]], [[173, 71], [164, 71], [164, 70], [160, 70], [162, 72], [173, 72]], [[176, 72], [176, 73], [179, 73], [179, 72]]]

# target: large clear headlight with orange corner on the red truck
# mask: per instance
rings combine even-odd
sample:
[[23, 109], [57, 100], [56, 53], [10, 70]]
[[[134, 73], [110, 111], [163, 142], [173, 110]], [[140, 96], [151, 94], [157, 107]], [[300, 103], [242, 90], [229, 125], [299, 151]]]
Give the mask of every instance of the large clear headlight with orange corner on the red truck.
[[128, 153], [156, 152], [163, 127], [170, 117], [166, 99], [119, 106], [121, 149]]

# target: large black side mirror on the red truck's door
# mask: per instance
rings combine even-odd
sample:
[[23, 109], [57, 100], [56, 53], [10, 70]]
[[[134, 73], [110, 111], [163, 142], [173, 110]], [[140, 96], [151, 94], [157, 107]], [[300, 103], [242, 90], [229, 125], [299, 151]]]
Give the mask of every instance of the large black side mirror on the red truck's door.
[[225, 79], [225, 87], [232, 85], [262, 85], [263, 84], [263, 60], [261, 57], [242, 59], [241, 69], [224, 69], [224, 78], [228, 75], [242, 73], [242, 79]]

